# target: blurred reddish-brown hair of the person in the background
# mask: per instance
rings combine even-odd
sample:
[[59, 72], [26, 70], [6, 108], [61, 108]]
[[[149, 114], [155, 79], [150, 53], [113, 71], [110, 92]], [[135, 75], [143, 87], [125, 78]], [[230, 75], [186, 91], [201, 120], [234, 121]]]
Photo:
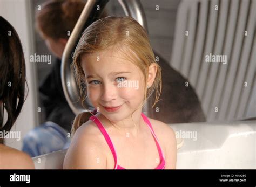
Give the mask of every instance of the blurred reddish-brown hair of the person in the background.
[[[36, 10], [36, 27], [42, 36], [68, 39], [82, 13], [86, 1], [50, 0]], [[106, 16], [105, 11], [102, 16]]]

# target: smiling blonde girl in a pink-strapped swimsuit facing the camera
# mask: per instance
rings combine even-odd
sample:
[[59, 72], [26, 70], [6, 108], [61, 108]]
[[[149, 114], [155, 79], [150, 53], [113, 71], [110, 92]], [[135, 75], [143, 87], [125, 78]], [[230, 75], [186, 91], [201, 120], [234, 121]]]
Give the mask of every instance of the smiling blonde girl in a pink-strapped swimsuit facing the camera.
[[87, 94], [96, 110], [89, 121], [86, 113], [76, 117], [64, 169], [175, 169], [173, 130], [142, 113], [161, 92], [143, 27], [131, 17], [97, 20], [80, 38], [73, 66], [82, 101]]

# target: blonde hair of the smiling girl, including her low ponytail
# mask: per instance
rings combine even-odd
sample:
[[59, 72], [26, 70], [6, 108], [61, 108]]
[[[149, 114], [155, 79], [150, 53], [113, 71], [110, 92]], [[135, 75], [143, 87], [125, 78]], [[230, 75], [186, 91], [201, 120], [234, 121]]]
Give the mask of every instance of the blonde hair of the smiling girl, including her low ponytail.
[[[76, 50], [73, 54], [73, 68], [77, 83], [82, 96], [82, 103], [86, 96], [86, 78], [81, 65], [81, 57], [85, 54], [113, 50], [115, 53], [121, 53], [122, 56], [136, 65], [144, 78], [144, 101], [153, 93], [155, 96], [154, 104], [159, 99], [161, 92], [161, 70], [154, 57], [150, 45], [149, 37], [144, 28], [131, 17], [109, 16], [92, 23], [83, 32]], [[151, 64], [157, 65], [156, 78], [149, 89], [146, 88], [148, 69]], [[83, 92], [85, 90], [85, 92]], [[84, 117], [83, 120], [78, 119]], [[73, 132], [88, 119], [85, 115], [77, 116], [73, 123]], [[81, 122], [77, 124], [76, 122]]]

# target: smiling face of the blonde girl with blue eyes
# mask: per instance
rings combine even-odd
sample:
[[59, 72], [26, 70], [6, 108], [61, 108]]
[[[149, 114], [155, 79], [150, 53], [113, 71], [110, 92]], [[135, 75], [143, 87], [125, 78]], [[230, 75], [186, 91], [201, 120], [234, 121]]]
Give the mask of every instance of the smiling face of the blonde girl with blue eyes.
[[82, 56], [82, 67], [92, 105], [110, 121], [126, 119], [142, 105], [144, 76], [131, 61], [108, 50]]

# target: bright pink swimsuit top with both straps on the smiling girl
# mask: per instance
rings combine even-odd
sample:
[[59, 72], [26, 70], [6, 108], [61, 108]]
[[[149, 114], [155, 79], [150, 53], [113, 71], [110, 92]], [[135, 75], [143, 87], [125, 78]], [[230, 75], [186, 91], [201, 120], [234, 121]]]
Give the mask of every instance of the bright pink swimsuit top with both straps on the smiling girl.
[[[159, 153], [159, 157], [160, 157], [160, 164], [155, 169], [164, 169], [165, 168], [165, 158], [164, 158], [164, 155], [163, 155], [163, 151], [161, 150], [161, 147], [159, 145], [159, 141], [157, 139], [157, 136], [156, 136], [156, 134], [154, 134], [154, 130], [152, 128], [152, 125], [151, 125], [149, 119], [147, 119], [147, 117], [143, 113], [142, 113], [142, 117], [143, 117], [143, 120], [146, 122], [147, 126], [150, 128], [150, 131], [153, 135], [154, 141], [156, 142], [156, 145], [157, 145], [157, 149], [158, 149], [158, 153]], [[103, 124], [99, 121], [97, 116], [91, 116], [90, 120], [95, 122], [95, 124], [98, 126], [99, 130], [102, 132], [103, 136], [105, 137], [105, 140], [106, 140], [107, 144], [109, 145], [109, 147], [111, 149], [111, 152], [112, 152], [113, 157], [114, 157], [114, 169], [125, 169], [125, 168], [123, 168], [123, 167], [121, 167], [120, 165], [117, 164], [116, 150], [114, 149], [113, 143], [110, 140], [109, 134], [107, 134], [107, 131], [105, 130]]]

